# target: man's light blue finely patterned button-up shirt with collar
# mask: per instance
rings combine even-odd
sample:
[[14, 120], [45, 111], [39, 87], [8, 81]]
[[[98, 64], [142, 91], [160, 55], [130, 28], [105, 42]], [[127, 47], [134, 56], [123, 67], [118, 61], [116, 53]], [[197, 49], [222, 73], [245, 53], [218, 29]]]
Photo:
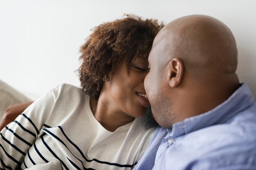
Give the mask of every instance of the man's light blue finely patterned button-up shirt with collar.
[[155, 131], [135, 170], [256, 170], [256, 103], [244, 83], [206, 113]]

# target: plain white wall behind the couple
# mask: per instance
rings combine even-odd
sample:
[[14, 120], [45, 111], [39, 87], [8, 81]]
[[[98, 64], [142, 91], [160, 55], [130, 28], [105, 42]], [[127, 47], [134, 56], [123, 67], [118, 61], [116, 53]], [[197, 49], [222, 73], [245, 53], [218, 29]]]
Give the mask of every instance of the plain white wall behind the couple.
[[91, 28], [123, 13], [165, 23], [190, 14], [221, 20], [236, 38], [240, 81], [256, 97], [256, 0], [0, 0], [0, 79], [33, 96], [79, 86], [79, 47]]

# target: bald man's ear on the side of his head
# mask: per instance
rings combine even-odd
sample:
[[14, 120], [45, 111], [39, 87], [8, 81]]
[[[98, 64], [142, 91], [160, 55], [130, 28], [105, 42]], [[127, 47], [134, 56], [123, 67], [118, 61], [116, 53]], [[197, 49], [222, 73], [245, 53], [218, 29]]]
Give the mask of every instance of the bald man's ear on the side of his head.
[[168, 81], [170, 87], [177, 87], [182, 82], [184, 65], [181, 59], [173, 58], [168, 63]]

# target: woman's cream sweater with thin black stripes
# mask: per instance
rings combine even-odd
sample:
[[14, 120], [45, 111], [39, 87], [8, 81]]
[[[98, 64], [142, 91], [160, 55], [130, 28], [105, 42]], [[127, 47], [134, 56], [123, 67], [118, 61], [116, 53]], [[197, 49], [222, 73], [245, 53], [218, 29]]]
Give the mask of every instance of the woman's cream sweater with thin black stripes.
[[1, 169], [131, 169], [153, 130], [139, 120], [104, 129], [90, 109], [90, 97], [63, 84], [39, 98], [0, 135]]

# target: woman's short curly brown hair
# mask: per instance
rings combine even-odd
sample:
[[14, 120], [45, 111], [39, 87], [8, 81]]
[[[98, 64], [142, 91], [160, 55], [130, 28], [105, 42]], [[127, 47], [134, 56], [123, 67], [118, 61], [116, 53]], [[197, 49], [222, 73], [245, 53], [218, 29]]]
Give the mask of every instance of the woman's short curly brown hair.
[[95, 27], [80, 48], [82, 64], [79, 76], [83, 91], [98, 99], [102, 78], [111, 75], [122, 59], [126, 59], [129, 74], [135, 58], [148, 57], [153, 40], [163, 26], [157, 20], [126, 15], [123, 19]]

